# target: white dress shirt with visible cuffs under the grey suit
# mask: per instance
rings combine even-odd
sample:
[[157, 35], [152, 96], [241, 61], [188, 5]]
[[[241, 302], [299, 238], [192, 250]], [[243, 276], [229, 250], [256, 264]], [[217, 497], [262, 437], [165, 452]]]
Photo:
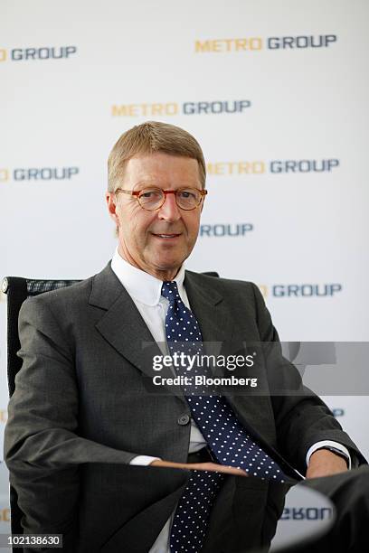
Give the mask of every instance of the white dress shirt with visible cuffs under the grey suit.
[[[152, 275], [149, 275], [145, 271], [142, 271], [141, 269], [134, 267], [133, 265], [130, 265], [128, 261], [126, 261], [119, 255], [118, 248], [116, 249], [114, 257], [112, 258], [111, 268], [134, 301], [139, 313], [141, 314], [145, 323], [147, 323], [148, 330], [150, 331], [150, 333], [152, 333], [154, 340], [161, 344], [165, 344], [166, 311], [169, 305], [169, 301], [163, 295], [161, 295], [163, 281], [156, 277], [153, 277]], [[191, 309], [191, 306], [188, 302], [188, 297], [185, 293], [184, 286], [185, 265], [182, 265], [182, 267], [179, 269], [174, 280], [178, 287], [178, 292], [181, 296], [182, 301], [184, 302], [186, 307]], [[166, 353], [166, 351], [163, 351], [163, 353]], [[203, 435], [201, 434], [198, 427], [195, 425], [194, 420], [191, 418], [191, 433], [188, 452], [194, 453], [195, 451], [199, 451], [205, 445], [206, 440], [203, 438]], [[317, 442], [317, 444], [312, 445], [307, 451], [307, 464], [310, 456], [317, 449], [319, 449], [320, 447], [324, 447], [325, 445], [331, 445], [332, 447], [336, 447], [336, 449], [339, 449], [340, 451], [345, 453], [345, 455], [347, 455], [349, 458], [349, 468], [351, 468], [350, 455], [345, 445], [338, 444], [331, 440]], [[134, 459], [131, 460], [130, 464], [147, 465], [155, 459], [158, 459], [158, 457], [152, 457], [150, 455], [137, 455], [137, 457], [134, 457]], [[169, 553], [169, 530], [173, 514], [172, 517], [170, 517], [170, 519], [166, 521], [165, 526], [157, 536], [154, 545], [148, 553]]]

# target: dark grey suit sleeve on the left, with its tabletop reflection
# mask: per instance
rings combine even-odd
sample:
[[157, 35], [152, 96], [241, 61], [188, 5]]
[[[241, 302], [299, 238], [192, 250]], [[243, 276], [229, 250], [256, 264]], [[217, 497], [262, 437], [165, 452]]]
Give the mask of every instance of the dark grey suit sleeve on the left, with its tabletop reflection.
[[48, 302], [40, 300], [24, 302], [19, 317], [23, 366], [9, 402], [5, 462], [24, 532], [63, 533], [72, 542], [80, 464], [129, 464], [137, 454], [79, 436], [72, 347]]

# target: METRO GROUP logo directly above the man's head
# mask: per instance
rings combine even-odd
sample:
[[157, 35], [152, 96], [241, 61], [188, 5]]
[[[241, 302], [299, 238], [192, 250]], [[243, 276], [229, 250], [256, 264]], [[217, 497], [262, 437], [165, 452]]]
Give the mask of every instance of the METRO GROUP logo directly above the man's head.
[[111, 107], [111, 115], [113, 117], [220, 115], [243, 113], [248, 108], [251, 108], [250, 99], [114, 104]]

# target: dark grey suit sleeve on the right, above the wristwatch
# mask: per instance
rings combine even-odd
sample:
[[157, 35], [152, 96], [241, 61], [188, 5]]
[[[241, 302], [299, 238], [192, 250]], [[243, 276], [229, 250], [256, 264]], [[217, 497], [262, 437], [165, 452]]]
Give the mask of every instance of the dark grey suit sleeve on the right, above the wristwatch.
[[[270, 313], [257, 286], [253, 285], [257, 323], [261, 342], [270, 344], [267, 359], [271, 388], [271, 403], [277, 428], [279, 450], [296, 466], [300, 473], [306, 472], [306, 455], [309, 448], [321, 440], [333, 440], [345, 445], [350, 454], [354, 453], [359, 464], [366, 460], [354, 442], [342, 430], [326, 404], [302, 383], [296, 367], [283, 358], [279, 336], [274, 328]], [[273, 390], [284, 390], [283, 394], [273, 394]], [[296, 393], [295, 393], [296, 392]]]

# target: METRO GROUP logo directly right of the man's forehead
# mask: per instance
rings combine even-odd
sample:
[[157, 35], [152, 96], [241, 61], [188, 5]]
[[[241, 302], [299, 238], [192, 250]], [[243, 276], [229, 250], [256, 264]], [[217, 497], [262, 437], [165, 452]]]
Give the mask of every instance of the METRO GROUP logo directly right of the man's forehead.
[[339, 160], [331, 159], [274, 159], [270, 161], [210, 162], [206, 171], [211, 176], [244, 174], [331, 173], [339, 167]]

